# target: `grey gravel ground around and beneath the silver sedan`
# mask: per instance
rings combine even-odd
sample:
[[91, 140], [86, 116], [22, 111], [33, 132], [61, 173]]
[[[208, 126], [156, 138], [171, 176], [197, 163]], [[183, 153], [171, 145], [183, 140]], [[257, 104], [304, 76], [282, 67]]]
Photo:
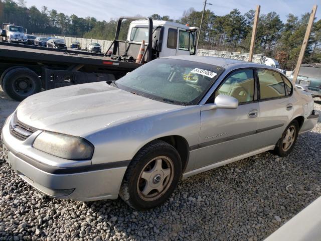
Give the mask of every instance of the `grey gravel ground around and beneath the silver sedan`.
[[[0, 123], [17, 104], [0, 90]], [[262, 240], [321, 195], [320, 122], [288, 157], [263, 153], [196, 175], [143, 212], [120, 199], [49, 198], [9, 168], [0, 147], [0, 240]]]

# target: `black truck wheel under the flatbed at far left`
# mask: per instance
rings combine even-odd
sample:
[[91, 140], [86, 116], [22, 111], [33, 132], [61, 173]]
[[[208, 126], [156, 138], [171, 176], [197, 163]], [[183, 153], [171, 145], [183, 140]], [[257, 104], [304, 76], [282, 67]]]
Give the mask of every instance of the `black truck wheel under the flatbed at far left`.
[[22, 101], [41, 91], [41, 80], [28, 68], [14, 68], [4, 76], [2, 87], [11, 98]]

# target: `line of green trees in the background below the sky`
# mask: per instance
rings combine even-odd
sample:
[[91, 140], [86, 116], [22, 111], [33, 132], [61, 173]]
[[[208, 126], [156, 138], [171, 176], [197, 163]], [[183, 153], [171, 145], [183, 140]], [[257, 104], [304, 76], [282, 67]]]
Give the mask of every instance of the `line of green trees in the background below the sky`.
[[[224, 16], [217, 16], [207, 10], [204, 13], [199, 48], [235, 52], [249, 52], [254, 10], [241, 14], [238, 9]], [[200, 26], [202, 12], [193, 8], [184, 11], [177, 20], [169, 16], [153, 14], [153, 20], [168, 20], [190, 26]], [[289, 14], [285, 23], [275, 12], [261, 14], [259, 18], [255, 53], [275, 58], [282, 68], [293, 69], [304, 38], [309, 13], [301, 16]], [[26, 7], [24, 0], [0, 0], [0, 22], [10, 22], [24, 26], [29, 33], [63, 34], [84, 38], [112, 40], [117, 20], [97, 21], [93, 17], [79, 18], [65, 15], [43, 6]], [[120, 38], [127, 35], [128, 22], [122, 24]], [[321, 62], [321, 20], [314, 21], [304, 62]]]

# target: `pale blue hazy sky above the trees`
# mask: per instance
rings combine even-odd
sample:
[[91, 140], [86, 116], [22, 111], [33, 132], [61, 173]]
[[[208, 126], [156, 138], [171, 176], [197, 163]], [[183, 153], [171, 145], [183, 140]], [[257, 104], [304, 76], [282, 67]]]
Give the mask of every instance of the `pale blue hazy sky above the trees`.
[[[197, 11], [203, 10], [204, 0], [55, 0], [39, 1], [26, 0], [27, 7], [36, 6], [39, 10], [46, 5], [49, 10], [55, 9], [67, 15], [75, 14], [78, 17], [94, 17], [99, 21], [117, 19], [120, 16], [150, 16], [159, 14], [168, 15], [172, 19], [179, 19], [185, 10], [193, 7]], [[276, 12], [283, 22], [286, 16], [292, 13], [300, 16], [303, 13], [311, 12], [313, 5], [318, 4], [316, 11], [317, 20], [321, 18], [320, 0], [208, 0], [212, 6], [207, 9], [215, 15], [222, 16], [237, 8], [244, 14], [250, 9], [261, 6], [260, 14]]]

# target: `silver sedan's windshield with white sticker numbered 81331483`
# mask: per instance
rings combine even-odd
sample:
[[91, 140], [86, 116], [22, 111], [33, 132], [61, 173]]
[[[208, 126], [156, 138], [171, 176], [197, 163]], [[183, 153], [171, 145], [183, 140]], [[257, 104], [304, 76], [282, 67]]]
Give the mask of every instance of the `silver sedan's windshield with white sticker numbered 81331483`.
[[178, 59], [157, 59], [117, 80], [118, 88], [150, 99], [195, 105], [224, 68]]

